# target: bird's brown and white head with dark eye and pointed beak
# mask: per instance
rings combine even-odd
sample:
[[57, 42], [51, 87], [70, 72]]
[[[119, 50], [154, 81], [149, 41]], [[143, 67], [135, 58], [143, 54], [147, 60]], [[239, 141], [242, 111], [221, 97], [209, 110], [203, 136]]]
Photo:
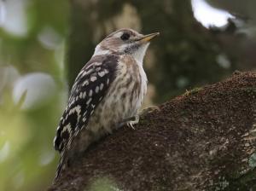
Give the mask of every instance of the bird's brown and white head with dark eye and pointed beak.
[[142, 62], [150, 40], [159, 34], [159, 32], [155, 32], [143, 35], [132, 29], [120, 29], [104, 38], [96, 46], [94, 55], [111, 53], [119, 55], [129, 54], [137, 59], [137, 61]]

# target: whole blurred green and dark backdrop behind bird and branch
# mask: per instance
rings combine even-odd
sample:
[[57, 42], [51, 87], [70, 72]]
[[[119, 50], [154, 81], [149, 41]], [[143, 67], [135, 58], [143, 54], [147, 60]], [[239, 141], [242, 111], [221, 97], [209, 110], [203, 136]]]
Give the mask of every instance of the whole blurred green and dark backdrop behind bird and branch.
[[144, 106], [255, 71], [253, 0], [0, 0], [0, 190], [45, 190], [69, 89], [109, 32], [160, 32]]

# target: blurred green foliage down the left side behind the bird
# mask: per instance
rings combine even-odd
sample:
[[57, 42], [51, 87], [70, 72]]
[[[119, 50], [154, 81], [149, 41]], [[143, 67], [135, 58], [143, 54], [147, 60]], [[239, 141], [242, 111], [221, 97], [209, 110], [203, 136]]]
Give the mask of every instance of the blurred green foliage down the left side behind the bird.
[[[62, 0], [7, 1], [6, 8], [21, 6], [26, 32], [10, 32], [0, 27], [0, 190], [44, 190], [55, 176], [57, 157], [53, 148], [55, 129], [67, 95], [64, 85], [63, 55], [67, 34], [68, 2]], [[12, 22], [6, 17], [5, 22]], [[5, 23], [6, 24], [6, 23]], [[17, 69], [18, 77], [6, 70]], [[30, 90], [14, 90], [20, 77], [44, 72], [54, 79], [55, 92], [37, 106], [24, 108]], [[29, 85], [28, 85], [29, 87]], [[36, 87], [35, 91], [42, 90]], [[65, 91], [64, 91], [65, 90]]]

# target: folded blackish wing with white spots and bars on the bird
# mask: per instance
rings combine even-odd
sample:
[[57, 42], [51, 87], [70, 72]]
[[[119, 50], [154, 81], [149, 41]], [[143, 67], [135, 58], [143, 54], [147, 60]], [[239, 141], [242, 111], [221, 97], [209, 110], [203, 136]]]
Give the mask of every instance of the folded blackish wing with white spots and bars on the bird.
[[94, 56], [79, 72], [55, 136], [55, 150], [61, 155], [86, 128], [90, 115], [106, 95], [115, 78], [117, 62], [117, 55]]

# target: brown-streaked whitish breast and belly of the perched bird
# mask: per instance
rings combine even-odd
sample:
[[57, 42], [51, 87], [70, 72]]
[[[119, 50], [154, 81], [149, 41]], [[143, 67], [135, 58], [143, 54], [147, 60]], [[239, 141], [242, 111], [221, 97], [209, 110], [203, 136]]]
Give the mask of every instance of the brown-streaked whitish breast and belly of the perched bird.
[[[96, 108], [89, 126], [94, 130], [111, 132], [121, 121], [137, 114], [146, 90], [147, 77], [143, 67], [131, 58], [119, 59], [116, 77]], [[99, 121], [102, 124], [98, 124]]]

